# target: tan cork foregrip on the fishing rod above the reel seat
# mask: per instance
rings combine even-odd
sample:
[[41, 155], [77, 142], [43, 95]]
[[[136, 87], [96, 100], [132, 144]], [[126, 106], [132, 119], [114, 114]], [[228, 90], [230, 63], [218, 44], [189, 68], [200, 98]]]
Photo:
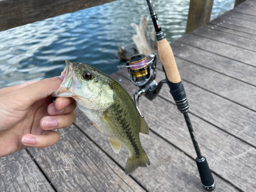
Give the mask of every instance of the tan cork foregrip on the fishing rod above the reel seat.
[[168, 44], [166, 38], [159, 40], [157, 42], [157, 46], [158, 53], [163, 63], [163, 67], [168, 80], [173, 83], [180, 82], [181, 78], [175, 62], [173, 50], [172, 48], [170, 48], [170, 45]]

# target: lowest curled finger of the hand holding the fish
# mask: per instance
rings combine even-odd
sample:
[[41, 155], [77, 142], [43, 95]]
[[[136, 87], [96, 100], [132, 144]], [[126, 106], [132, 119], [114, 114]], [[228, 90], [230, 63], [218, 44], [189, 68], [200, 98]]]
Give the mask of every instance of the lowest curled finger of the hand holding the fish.
[[42, 135], [26, 134], [22, 137], [22, 143], [26, 146], [44, 148], [56, 144], [59, 141], [59, 134], [55, 131], [44, 131]]

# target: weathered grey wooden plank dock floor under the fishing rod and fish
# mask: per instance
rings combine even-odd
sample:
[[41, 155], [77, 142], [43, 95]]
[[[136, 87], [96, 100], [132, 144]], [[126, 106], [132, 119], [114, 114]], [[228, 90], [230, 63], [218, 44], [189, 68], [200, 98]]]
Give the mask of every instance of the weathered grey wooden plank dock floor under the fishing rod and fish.
[[[190, 105], [189, 116], [215, 191], [256, 190], [256, 1], [247, 0], [172, 42]], [[164, 78], [158, 58], [157, 81]], [[111, 75], [131, 95], [126, 69]], [[141, 142], [151, 165], [124, 174], [128, 152], [116, 154], [79, 110], [51, 147], [0, 158], [0, 191], [205, 191], [183, 115], [168, 87], [140, 99], [150, 126]]]

